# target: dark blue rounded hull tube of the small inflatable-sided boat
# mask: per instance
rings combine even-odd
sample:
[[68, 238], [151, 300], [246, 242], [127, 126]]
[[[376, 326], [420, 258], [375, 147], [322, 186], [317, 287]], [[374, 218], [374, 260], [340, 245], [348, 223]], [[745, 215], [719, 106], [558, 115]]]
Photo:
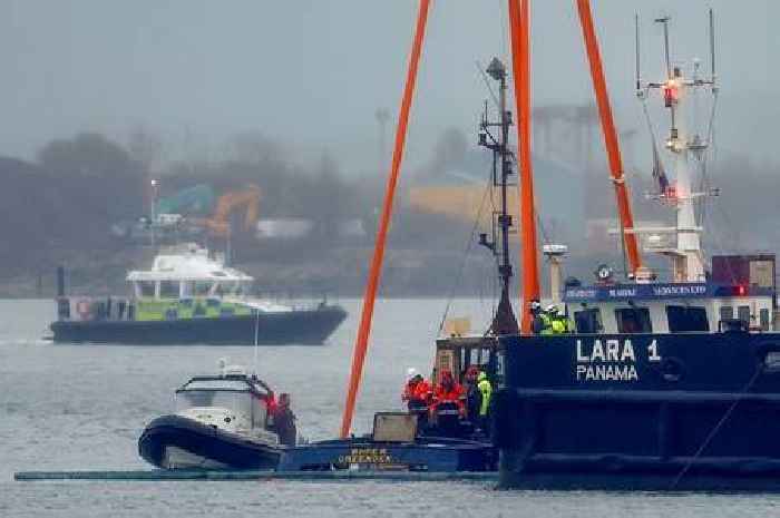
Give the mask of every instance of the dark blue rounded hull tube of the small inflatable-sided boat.
[[163, 416], [138, 439], [138, 453], [163, 469], [275, 469], [283, 448], [182, 416]]

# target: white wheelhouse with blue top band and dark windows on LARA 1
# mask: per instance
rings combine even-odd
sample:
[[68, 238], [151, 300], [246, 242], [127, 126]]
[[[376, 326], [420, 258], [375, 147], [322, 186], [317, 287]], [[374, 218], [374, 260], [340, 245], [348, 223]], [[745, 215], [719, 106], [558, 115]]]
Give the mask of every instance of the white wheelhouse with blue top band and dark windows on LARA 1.
[[684, 333], [774, 329], [773, 287], [632, 283], [568, 287], [565, 311], [577, 333]]

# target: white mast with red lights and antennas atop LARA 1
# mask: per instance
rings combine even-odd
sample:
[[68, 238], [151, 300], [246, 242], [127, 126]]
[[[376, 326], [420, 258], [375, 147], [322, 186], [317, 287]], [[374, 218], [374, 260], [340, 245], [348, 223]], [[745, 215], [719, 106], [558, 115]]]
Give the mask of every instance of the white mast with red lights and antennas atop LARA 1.
[[[663, 26], [664, 31], [664, 60], [666, 78], [660, 82], [647, 82], [644, 87], [638, 77], [637, 63], [636, 95], [644, 101], [651, 89], [659, 90], [663, 95], [664, 106], [669, 109], [670, 131], [665, 140], [666, 149], [674, 157], [674, 173], [676, 182], [666, 186], [660, 194], [649, 197], [659, 199], [676, 212], [676, 225], [672, 228], [654, 228], [645, 232], [664, 232], [676, 236], [676, 246], [657, 248], [663, 255], [669, 256], [673, 264], [673, 278], [675, 282], [702, 282], [705, 280], [704, 256], [701, 248], [701, 233], [703, 228], [696, 224], [696, 198], [715, 196], [718, 190], [694, 192], [691, 179], [691, 169], [694, 160], [701, 160], [709, 147], [709, 135], [702, 138], [696, 128], [690, 128], [685, 124], [685, 108], [692, 101], [693, 95], [700, 88], [710, 88], [716, 95], [715, 85], [715, 58], [714, 58], [714, 19], [710, 10], [710, 79], [700, 77], [698, 60], [693, 63], [692, 76], [685, 77], [680, 66], [673, 65], [670, 58], [669, 45], [669, 17], [659, 18], [656, 23]], [[637, 29], [638, 41], [638, 29]], [[638, 56], [638, 52], [637, 52]], [[638, 58], [637, 58], [638, 61]]]

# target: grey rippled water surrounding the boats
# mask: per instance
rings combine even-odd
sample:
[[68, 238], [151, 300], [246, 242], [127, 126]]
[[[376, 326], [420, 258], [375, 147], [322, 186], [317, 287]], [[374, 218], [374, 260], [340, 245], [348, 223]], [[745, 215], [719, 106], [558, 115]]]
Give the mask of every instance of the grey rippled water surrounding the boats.
[[[322, 348], [261, 348], [259, 371], [289, 391], [299, 429], [333, 437], [340, 424], [360, 304]], [[381, 301], [355, 430], [400, 408], [408, 366], [428, 371], [445, 301]], [[489, 314], [457, 301], [455, 315]], [[252, 364], [252, 348], [55, 345], [41, 340], [49, 301], [0, 301], [0, 518], [191, 516], [780, 517], [780, 496], [495, 491], [487, 483], [13, 482], [18, 470], [147, 469], [136, 453], [144, 423], [173, 391], [220, 358]]]

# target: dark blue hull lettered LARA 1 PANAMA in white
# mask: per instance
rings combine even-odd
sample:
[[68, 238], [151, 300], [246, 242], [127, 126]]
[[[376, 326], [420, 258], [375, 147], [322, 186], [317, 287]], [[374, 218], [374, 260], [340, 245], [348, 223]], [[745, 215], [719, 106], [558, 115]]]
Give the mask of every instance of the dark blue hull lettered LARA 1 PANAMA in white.
[[507, 379], [494, 431], [503, 487], [780, 490], [779, 334], [501, 344]]

